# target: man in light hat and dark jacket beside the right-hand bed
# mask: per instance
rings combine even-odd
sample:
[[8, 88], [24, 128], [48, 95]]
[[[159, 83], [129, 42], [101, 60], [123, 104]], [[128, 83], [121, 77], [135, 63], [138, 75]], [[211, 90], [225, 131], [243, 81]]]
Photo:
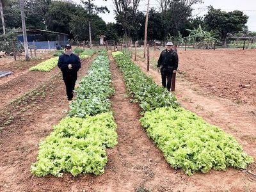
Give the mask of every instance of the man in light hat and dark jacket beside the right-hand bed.
[[[166, 49], [161, 52], [157, 61], [157, 70], [161, 68], [162, 84], [170, 92], [173, 71], [176, 71], [179, 64], [177, 52], [173, 49], [173, 43], [168, 42]], [[167, 79], [167, 84], [166, 84]]]

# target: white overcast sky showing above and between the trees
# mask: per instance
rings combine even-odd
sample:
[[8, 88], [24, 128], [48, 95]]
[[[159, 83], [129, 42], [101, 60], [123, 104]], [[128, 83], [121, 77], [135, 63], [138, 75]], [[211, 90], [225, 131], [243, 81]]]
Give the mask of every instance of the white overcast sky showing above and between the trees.
[[[80, 0], [73, 0], [76, 3], [80, 3]], [[95, 0], [93, 3], [98, 6], [107, 6], [110, 13], [99, 14], [105, 22], [116, 22], [115, 14], [114, 14], [114, 4], [112, 0]], [[193, 7], [195, 8], [193, 15], [204, 16], [207, 13], [207, 6], [212, 5], [214, 8], [220, 8], [223, 11], [231, 12], [233, 10], [241, 10], [244, 14], [249, 16], [247, 26], [250, 31], [256, 31], [256, 1], [255, 0], [204, 0], [204, 4], [195, 4]], [[158, 3], [156, 0], [150, 0], [150, 8], [158, 7]], [[147, 10], [147, 0], [141, 0], [139, 9], [141, 11]]]

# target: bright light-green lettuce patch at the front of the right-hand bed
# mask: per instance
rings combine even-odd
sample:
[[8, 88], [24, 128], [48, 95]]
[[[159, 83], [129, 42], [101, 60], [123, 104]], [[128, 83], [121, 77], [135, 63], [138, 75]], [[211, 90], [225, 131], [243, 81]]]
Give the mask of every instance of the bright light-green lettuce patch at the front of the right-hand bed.
[[188, 175], [211, 168], [244, 169], [253, 162], [232, 136], [186, 109], [158, 108], [140, 121], [170, 166]]

